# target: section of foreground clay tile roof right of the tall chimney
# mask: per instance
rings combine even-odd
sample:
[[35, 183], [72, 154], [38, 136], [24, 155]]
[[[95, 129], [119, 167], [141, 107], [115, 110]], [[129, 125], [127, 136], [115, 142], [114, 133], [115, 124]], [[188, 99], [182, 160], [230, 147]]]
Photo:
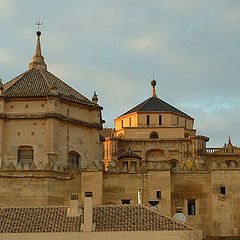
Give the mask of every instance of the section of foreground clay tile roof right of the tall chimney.
[[99, 206], [95, 210], [96, 231], [164, 231], [191, 228], [142, 205]]

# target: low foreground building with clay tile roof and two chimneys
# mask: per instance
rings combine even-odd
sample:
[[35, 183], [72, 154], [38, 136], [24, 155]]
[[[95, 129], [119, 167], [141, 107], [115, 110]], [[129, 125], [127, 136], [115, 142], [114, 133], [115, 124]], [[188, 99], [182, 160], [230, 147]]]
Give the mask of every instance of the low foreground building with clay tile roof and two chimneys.
[[[201, 231], [143, 205], [0, 208], [1, 239], [202, 239]], [[91, 232], [91, 233], [90, 233]], [[184, 238], [183, 238], [184, 237]], [[191, 237], [191, 238], [190, 238]]]

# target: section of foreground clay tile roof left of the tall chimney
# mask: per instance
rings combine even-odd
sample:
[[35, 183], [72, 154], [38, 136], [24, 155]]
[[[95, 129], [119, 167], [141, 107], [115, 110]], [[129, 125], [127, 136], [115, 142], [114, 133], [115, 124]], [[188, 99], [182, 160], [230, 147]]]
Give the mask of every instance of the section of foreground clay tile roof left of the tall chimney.
[[78, 232], [82, 219], [68, 218], [67, 207], [0, 208], [0, 233]]

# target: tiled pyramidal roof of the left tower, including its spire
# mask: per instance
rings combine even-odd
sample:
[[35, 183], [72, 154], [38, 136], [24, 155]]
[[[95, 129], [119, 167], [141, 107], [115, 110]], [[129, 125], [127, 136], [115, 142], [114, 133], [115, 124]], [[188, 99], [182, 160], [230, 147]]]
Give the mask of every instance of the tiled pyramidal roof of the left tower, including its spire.
[[73, 102], [100, 107], [47, 70], [41, 53], [41, 32], [37, 32], [36, 52], [29, 70], [20, 74], [3, 87], [1, 96], [7, 98], [58, 96]]

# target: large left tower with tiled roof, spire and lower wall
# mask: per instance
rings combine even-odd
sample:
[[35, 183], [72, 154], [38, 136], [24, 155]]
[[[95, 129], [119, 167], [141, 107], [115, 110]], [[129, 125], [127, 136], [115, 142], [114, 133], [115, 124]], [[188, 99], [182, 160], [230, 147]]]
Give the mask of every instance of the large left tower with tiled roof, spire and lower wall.
[[85, 170], [101, 186], [102, 107], [47, 70], [40, 35], [29, 69], [0, 85], [1, 206], [62, 204]]

